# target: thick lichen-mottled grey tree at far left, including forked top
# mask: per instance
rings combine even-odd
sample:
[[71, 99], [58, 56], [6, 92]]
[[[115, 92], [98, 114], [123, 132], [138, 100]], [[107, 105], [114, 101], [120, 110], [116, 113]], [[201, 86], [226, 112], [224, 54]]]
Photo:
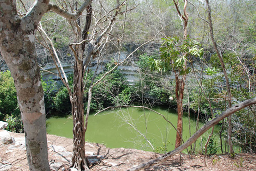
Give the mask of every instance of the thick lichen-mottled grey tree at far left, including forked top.
[[31, 171], [50, 171], [47, 153], [44, 92], [36, 61], [35, 32], [49, 0], [37, 1], [19, 18], [16, 1], [0, 2], [0, 51], [17, 90]]

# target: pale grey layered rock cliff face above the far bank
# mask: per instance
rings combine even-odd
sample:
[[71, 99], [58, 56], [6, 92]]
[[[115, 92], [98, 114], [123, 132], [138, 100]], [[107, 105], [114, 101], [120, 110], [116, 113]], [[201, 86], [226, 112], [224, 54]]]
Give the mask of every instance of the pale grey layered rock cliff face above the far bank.
[[[148, 55], [156, 54], [159, 51], [159, 47], [161, 44], [158, 43], [150, 43], [145, 46], [142, 46], [139, 50], [137, 50], [129, 59], [120, 65], [118, 69], [121, 70], [122, 74], [125, 75], [127, 81], [130, 84], [134, 84], [134, 82], [138, 81], [136, 76], [138, 67], [136, 66], [135, 62], [138, 61], [138, 56], [140, 54], [147, 53]], [[139, 43], [127, 43], [123, 46], [123, 51], [120, 52], [120, 56], [118, 56], [118, 52], [115, 47], [108, 46], [106, 47], [106, 52], [104, 53], [103, 58], [100, 61], [100, 66], [97, 73], [104, 72], [106, 70], [105, 65], [106, 63], [110, 62], [112, 59], [116, 61], [123, 61], [127, 55], [132, 53], [137, 47], [139, 47]], [[66, 74], [73, 73], [73, 56], [72, 52], [68, 48], [63, 48], [61, 51], [58, 51], [60, 60], [62, 61], [62, 67]], [[94, 61], [91, 62], [90, 70], [95, 71], [97, 66], [98, 59], [95, 58]], [[52, 73], [57, 74], [58, 71], [52, 61], [51, 56], [45, 52], [43, 48], [38, 48], [38, 63], [44, 67], [44, 69], [51, 71]], [[59, 79], [56, 75], [47, 73], [46, 71], [42, 70], [42, 74], [44, 79], [52, 78], [52, 79]]]

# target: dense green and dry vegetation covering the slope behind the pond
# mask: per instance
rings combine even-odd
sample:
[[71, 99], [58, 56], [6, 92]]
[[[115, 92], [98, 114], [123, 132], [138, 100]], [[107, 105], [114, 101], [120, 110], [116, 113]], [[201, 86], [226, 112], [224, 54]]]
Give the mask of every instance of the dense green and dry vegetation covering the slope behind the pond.
[[[139, 68], [137, 77], [139, 81], [129, 85], [120, 70], [114, 70], [107, 75], [92, 91], [91, 111], [98, 111], [108, 106], [119, 106], [122, 104], [139, 103], [140, 105], [154, 106], [156, 104], [176, 107], [175, 82], [173, 79], [173, 68], [166, 66], [161, 51], [158, 47], [164, 42], [161, 38], [182, 37], [180, 19], [177, 17], [172, 1], [150, 0], [132, 1], [131, 6], [136, 6], [127, 13], [126, 29], [124, 30], [125, 44], [137, 45], [151, 39], [159, 30], [161, 34], [154, 40], [157, 47], [153, 49], [141, 49], [134, 56], [136, 66]], [[200, 15], [206, 17], [206, 5], [203, 1], [192, 1], [197, 7]], [[110, 8], [114, 5], [112, 1], [103, 4], [96, 1], [95, 9], [101, 5]], [[230, 80], [232, 103], [244, 101], [255, 96], [255, 60], [256, 60], [256, 4], [255, 1], [214, 1], [212, 2], [212, 22], [214, 23], [214, 36], [217, 40], [223, 60], [228, 71]], [[192, 111], [194, 116], [200, 116], [202, 120], [208, 121], [210, 99], [214, 114], [219, 114], [228, 107], [227, 90], [222, 68], [216, 52], [210, 42], [209, 28], [204, 20], [198, 17], [197, 10], [191, 4], [188, 5], [189, 13], [189, 37], [200, 42], [203, 49], [201, 58], [192, 55], [188, 58], [188, 74], [184, 96], [183, 107]], [[97, 11], [97, 10], [95, 10]], [[81, 19], [82, 20], [82, 19]], [[112, 34], [116, 37], [107, 45], [103, 51], [105, 56], [118, 50], [129, 53], [130, 49], [124, 44], [118, 49], [119, 38], [122, 33], [124, 15], [116, 18]], [[51, 22], [49, 22], [51, 21]], [[72, 53], [68, 45], [73, 42], [72, 26], [68, 20], [52, 13], [44, 15], [42, 25], [52, 38], [54, 47], [63, 62], [71, 61]], [[42, 38], [38, 35], [39, 42]], [[38, 62], [44, 66], [52, 62], [49, 53], [45, 51], [38, 42]], [[181, 46], [181, 44], [180, 44]], [[137, 58], [137, 59], [136, 59]], [[170, 60], [170, 59], [169, 59]], [[176, 61], [176, 60], [175, 60]], [[115, 65], [115, 60], [105, 65], [109, 70]], [[160, 67], [159, 67], [160, 66]], [[101, 71], [95, 78], [98, 80], [104, 74]], [[88, 73], [86, 89], [84, 93], [84, 106], [87, 107], [87, 90], [91, 84], [93, 72]], [[70, 85], [73, 76], [68, 77]], [[44, 99], [47, 117], [55, 115], [70, 114], [71, 104], [67, 88], [59, 81], [50, 79], [43, 80]], [[200, 84], [200, 85], [199, 85]], [[204, 89], [203, 95], [201, 87]], [[207, 97], [207, 98], [206, 98]], [[243, 151], [256, 151], [256, 110], [252, 106], [237, 112], [233, 118], [232, 140], [241, 146]], [[17, 104], [16, 90], [9, 71], [0, 74], [0, 120], [9, 123], [8, 130], [22, 132], [22, 122]], [[220, 123], [222, 130], [220, 136], [227, 138], [228, 124], [226, 119]], [[210, 141], [210, 153], [214, 153], [214, 142]]]

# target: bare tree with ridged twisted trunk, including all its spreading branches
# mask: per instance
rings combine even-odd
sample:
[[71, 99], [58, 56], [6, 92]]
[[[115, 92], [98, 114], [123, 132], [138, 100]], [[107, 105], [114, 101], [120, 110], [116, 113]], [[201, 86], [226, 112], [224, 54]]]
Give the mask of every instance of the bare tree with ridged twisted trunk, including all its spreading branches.
[[[89, 2], [89, 1], [88, 1]], [[86, 17], [83, 18], [82, 11], [78, 14], [77, 18], [73, 18], [73, 16], [68, 13], [67, 11], [72, 11], [73, 6], [77, 9], [77, 4], [69, 4], [66, 6], [65, 12], [63, 14], [63, 11], [60, 12], [60, 7], [55, 5], [49, 5], [50, 10], [60, 14], [62, 17], [68, 19], [70, 21], [70, 27], [72, 27], [72, 30], [74, 32], [74, 41], [75, 43], [69, 44], [70, 49], [72, 50], [74, 54], [74, 82], [73, 82], [73, 91], [71, 86], [68, 83], [67, 76], [62, 68], [59, 56], [56, 52], [56, 49], [54, 47], [54, 44], [52, 40], [49, 38], [47, 33], [44, 31], [44, 29], [41, 27], [38, 27], [42, 38], [44, 39], [43, 42], [50, 54], [52, 55], [52, 59], [54, 61], [54, 64], [58, 70], [58, 76], [64, 83], [64, 85], [68, 89], [68, 95], [72, 106], [72, 116], [73, 116], [73, 156], [72, 156], [72, 164], [71, 167], [76, 168], [77, 170], [89, 170], [86, 162], [85, 157], [85, 132], [87, 130], [87, 124], [88, 124], [88, 117], [90, 112], [90, 103], [92, 100], [92, 89], [95, 85], [97, 85], [106, 75], [108, 75], [110, 72], [112, 72], [115, 68], [117, 68], [119, 65], [124, 63], [132, 54], [137, 51], [141, 46], [147, 44], [148, 42], [152, 41], [149, 40], [146, 43], [143, 43], [138, 48], [136, 48], [132, 53], [130, 53], [123, 61], [120, 60], [120, 50], [122, 48], [123, 43], [123, 37], [124, 37], [124, 29], [125, 29], [125, 23], [126, 23], [126, 13], [127, 11], [132, 10], [128, 9], [128, 1], [124, 0], [121, 3], [117, 1], [117, 4], [111, 9], [111, 5], [109, 11], [106, 10], [107, 8], [103, 7], [103, 4], [101, 4], [100, 1], [96, 1], [99, 3], [100, 9], [97, 9], [97, 13], [93, 14], [93, 8], [92, 4], [88, 4], [86, 7]], [[68, 4], [68, 3], [67, 3]], [[95, 4], [94, 4], [95, 5]], [[83, 8], [83, 5], [80, 7], [80, 9]], [[95, 10], [96, 11], [96, 10]], [[116, 24], [117, 15], [123, 14], [124, 20], [122, 21], [122, 32], [121, 36], [118, 39], [118, 59], [114, 65], [114, 67], [110, 68], [107, 72], [105, 72], [102, 77], [95, 81], [95, 77], [97, 74], [97, 69], [99, 67], [99, 63], [101, 61], [101, 55], [102, 52], [106, 46], [107, 43], [111, 42], [113, 35], [111, 34], [111, 31], [113, 29], [113, 26]], [[82, 21], [85, 20], [85, 24], [82, 28]], [[92, 23], [92, 21], [94, 23]], [[92, 26], [92, 28], [90, 28]], [[89, 30], [90, 29], [90, 30]], [[153, 39], [157, 36], [156, 34]], [[49, 43], [46, 43], [46, 39]], [[97, 57], [97, 58], [96, 58]], [[97, 67], [93, 74], [91, 83], [86, 84], [87, 82], [87, 76], [89, 73], [89, 66], [92, 62], [92, 60], [97, 59]], [[60, 68], [59, 68], [60, 67]], [[63, 75], [63, 76], [62, 76]], [[86, 87], [88, 86], [88, 87]], [[87, 100], [87, 109], [86, 109], [86, 117], [84, 121], [84, 89], [87, 89], [88, 93], [88, 100]]]

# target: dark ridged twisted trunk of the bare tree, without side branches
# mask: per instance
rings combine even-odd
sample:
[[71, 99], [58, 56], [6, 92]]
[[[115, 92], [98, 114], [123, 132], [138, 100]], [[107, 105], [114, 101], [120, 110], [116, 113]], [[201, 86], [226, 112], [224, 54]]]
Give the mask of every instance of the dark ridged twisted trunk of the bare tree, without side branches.
[[[92, 5], [88, 5], [86, 8], [86, 22], [83, 32], [80, 28], [77, 28], [78, 39], [76, 41], [81, 42], [87, 39], [88, 31], [92, 21]], [[78, 19], [78, 24], [80, 23]], [[74, 92], [71, 98], [72, 104], [72, 116], [73, 116], [73, 156], [72, 167], [80, 170], [89, 170], [85, 157], [85, 126], [84, 126], [84, 52], [85, 43], [76, 46], [76, 60], [74, 64]], [[85, 60], [91, 60], [91, 55], [87, 56]], [[87, 63], [87, 64], [88, 64]]]

